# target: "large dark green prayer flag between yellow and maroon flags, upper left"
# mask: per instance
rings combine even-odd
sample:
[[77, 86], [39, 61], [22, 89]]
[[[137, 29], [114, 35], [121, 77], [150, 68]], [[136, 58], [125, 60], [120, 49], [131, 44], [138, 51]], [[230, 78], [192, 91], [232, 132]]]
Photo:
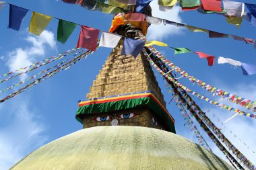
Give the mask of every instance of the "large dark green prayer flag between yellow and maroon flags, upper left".
[[65, 43], [69, 36], [72, 34], [73, 30], [75, 30], [76, 26], [77, 24], [59, 19], [57, 40], [59, 42]]

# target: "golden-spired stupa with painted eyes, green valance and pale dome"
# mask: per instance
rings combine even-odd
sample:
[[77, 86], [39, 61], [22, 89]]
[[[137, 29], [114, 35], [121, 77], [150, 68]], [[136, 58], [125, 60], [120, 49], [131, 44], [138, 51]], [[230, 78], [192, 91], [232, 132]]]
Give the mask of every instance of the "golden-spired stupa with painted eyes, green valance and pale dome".
[[38, 148], [11, 169], [233, 169], [175, 134], [148, 60], [143, 54], [121, 55], [125, 36], [136, 38], [142, 25], [115, 30], [123, 38], [87, 99], [79, 101], [76, 119], [84, 129]]

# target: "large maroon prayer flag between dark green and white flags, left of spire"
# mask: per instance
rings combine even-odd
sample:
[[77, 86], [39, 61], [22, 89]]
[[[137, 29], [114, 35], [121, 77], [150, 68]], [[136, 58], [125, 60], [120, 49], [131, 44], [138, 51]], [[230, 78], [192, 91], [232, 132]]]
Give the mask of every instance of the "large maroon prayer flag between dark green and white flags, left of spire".
[[86, 48], [88, 50], [95, 51], [97, 48], [99, 33], [100, 30], [97, 30], [95, 28], [81, 26], [81, 32], [76, 48]]

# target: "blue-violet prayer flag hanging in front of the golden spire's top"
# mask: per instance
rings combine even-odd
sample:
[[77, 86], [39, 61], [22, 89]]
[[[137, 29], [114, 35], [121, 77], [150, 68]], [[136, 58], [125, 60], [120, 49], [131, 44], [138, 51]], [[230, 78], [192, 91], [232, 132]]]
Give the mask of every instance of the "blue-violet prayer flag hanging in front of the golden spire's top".
[[134, 58], [141, 52], [145, 42], [143, 40], [135, 40], [132, 38], [125, 38], [123, 43], [122, 55], [133, 55]]

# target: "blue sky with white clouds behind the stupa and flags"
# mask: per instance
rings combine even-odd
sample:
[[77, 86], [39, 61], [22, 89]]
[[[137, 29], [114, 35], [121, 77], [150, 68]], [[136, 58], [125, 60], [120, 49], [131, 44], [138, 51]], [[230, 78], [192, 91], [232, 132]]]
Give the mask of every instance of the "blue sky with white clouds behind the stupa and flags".
[[[105, 31], [108, 31], [110, 28], [113, 18], [111, 14], [100, 13], [100, 11], [88, 11], [77, 5], [62, 3], [60, 0], [9, 0], [7, 2]], [[243, 2], [254, 3], [254, 1]], [[256, 38], [255, 27], [251, 26], [246, 20], [243, 20], [241, 28], [236, 29], [236, 26], [227, 24], [226, 18], [222, 15], [203, 15], [197, 11], [181, 11], [179, 7], [175, 7], [169, 13], [162, 13], [158, 10], [156, 3], [156, 0], [152, 1], [153, 15], [156, 17], [171, 19], [172, 21], [215, 30], [216, 32]], [[53, 19], [45, 32], [37, 38], [28, 33], [30, 16], [31, 12], [28, 12], [20, 32], [16, 32], [15, 30], [7, 29], [9, 6], [6, 5], [0, 11], [0, 75], [15, 68], [18, 69], [49, 56], [59, 54], [59, 52], [69, 50], [77, 44], [79, 26], [77, 26], [69, 40], [65, 44], [61, 44], [57, 42], [57, 19]], [[170, 46], [185, 47], [193, 51], [201, 51], [214, 56], [224, 56], [256, 65], [256, 49], [252, 45], [230, 38], [208, 38], [207, 34], [204, 33], [191, 33], [183, 28], [161, 25], [149, 28], [148, 39], [160, 40]], [[197, 79], [201, 79], [212, 86], [224, 89], [230, 93], [256, 101], [256, 75], [244, 76], [241, 68], [234, 69], [230, 65], [218, 65], [217, 62], [213, 67], [208, 67], [206, 60], [199, 58], [195, 54], [179, 54], [174, 56], [174, 52], [170, 48], [156, 48], [166, 58]], [[51, 79], [0, 104], [1, 169], [8, 169], [36, 148], [82, 128], [82, 125], [75, 120], [77, 101], [86, 98], [86, 93], [89, 92], [92, 81], [98, 75], [110, 51], [111, 49], [109, 48], [99, 48], [86, 60], [79, 61], [67, 71], [58, 73], [51, 77]], [[46, 68], [49, 68], [49, 66], [46, 66], [44, 69]], [[32, 76], [36, 75], [36, 73], [38, 71], [33, 71], [28, 73], [28, 75]], [[168, 103], [172, 96], [168, 93], [164, 81], [162, 81], [158, 73], [156, 73], [156, 77], [166, 103]], [[1, 89], [19, 81], [19, 78], [11, 79], [2, 83]], [[187, 87], [207, 97], [216, 100], [220, 99], [219, 97], [212, 97], [211, 93], [204, 91], [197, 87], [197, 85], [193, 85], [187, 79], [183, 78], [180, 81]], [[11, 91], [13, 92], [15, 89]], [[3, 98], [8, 94], [1, 93], [0, 97]], [[245, 116], [237, 116], [226, 123], [225, 127], [221, 127], [218, 118], [224, 122], [224, 120], [233, 116], [233, 113], [205, 103], [203, 100], [195, 99], [195, 101], [203, 110], [210, 110], [210, 113], [207, 115], [212, 118], [212, 121], [218, 127], [223, 128], [222, 132], [230, 138], [235, 146], [251, 159], [253, 163], [256, 163], [256, 156], [252, 153], [252, 150], [256, 151], [254, 142], [256, 140], [256, 132], [254, 130], [256, 121]], [[233, 105], [228, 101], [222, 100], [222, 102], [239, 108], [238, 105]], [[197, 142], [189, 128], [183, 126], [185, 122], [176, 105], [172, 102], [167, 108], [176, 120], [177, 134]], [[217, 119], [212, 114], [215, 114]], [[214, 153], [223, 158], [218, 148], [205, 136], [201, 128], [199, 130], [212, 147]], [[228, 130], [232, 130], [234, 134], [250, 146], [250, 149], [247, 149], [238, 138], [234, 138]]]

